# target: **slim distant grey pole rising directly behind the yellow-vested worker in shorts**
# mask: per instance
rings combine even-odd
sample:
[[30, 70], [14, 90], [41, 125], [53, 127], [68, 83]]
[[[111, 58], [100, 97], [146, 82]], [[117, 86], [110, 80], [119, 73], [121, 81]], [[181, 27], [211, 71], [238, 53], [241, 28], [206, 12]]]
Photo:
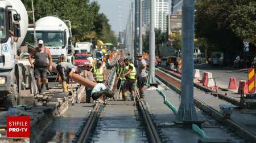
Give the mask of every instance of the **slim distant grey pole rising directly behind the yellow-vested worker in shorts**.
[[138, 67], [137, 65], [137, 0], [134, 0], [134, 66]]

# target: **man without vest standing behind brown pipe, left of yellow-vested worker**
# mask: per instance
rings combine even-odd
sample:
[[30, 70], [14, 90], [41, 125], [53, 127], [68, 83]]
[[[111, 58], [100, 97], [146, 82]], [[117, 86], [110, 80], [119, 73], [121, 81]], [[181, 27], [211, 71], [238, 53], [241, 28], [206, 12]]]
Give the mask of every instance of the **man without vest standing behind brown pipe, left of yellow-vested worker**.
[[[89, 63], [87, 66], [87, 70], [84, 71], [84, 77], [85, 77], [85, 79], [88, 79], [88, 80], [96, 83], [96, 81], [93, 78], [92, 67], [93, 67], [92, 64]], [[85, 102], [90, 103], [90, 95], [92, 94], [92, 89], [85, 87], [85, 92], [86, 92]]]

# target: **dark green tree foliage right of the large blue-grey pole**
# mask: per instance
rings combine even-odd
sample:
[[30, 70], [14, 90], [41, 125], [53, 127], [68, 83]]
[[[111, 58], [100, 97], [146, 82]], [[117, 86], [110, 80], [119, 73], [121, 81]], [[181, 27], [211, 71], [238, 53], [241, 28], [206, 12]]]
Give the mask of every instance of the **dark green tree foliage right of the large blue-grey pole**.
[[216, 50], [241, 50], [243, 39], [256, 44], [254, 0], [201, 0], [195, 6], [196, 37], [205, 38]]

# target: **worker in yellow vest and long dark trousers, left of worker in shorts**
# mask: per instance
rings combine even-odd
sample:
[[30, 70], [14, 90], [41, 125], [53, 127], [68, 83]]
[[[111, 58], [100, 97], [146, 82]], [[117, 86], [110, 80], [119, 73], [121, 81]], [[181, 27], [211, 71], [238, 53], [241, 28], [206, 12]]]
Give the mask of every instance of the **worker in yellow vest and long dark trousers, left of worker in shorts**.
[[120, 97], [120, 99], [122, 99], [122, 88], [121, 88], [121, 86], [125, 82], [125, 77], [123, 77], [123, 73], [125, 73], [125, 64], [123, 64], [122, 59], [118, 60], [117, 70], [115, 72], [117, 73], [117, 78], [118, 78], [117, 89], [118, 90], [120, 89], [119, 97]]

